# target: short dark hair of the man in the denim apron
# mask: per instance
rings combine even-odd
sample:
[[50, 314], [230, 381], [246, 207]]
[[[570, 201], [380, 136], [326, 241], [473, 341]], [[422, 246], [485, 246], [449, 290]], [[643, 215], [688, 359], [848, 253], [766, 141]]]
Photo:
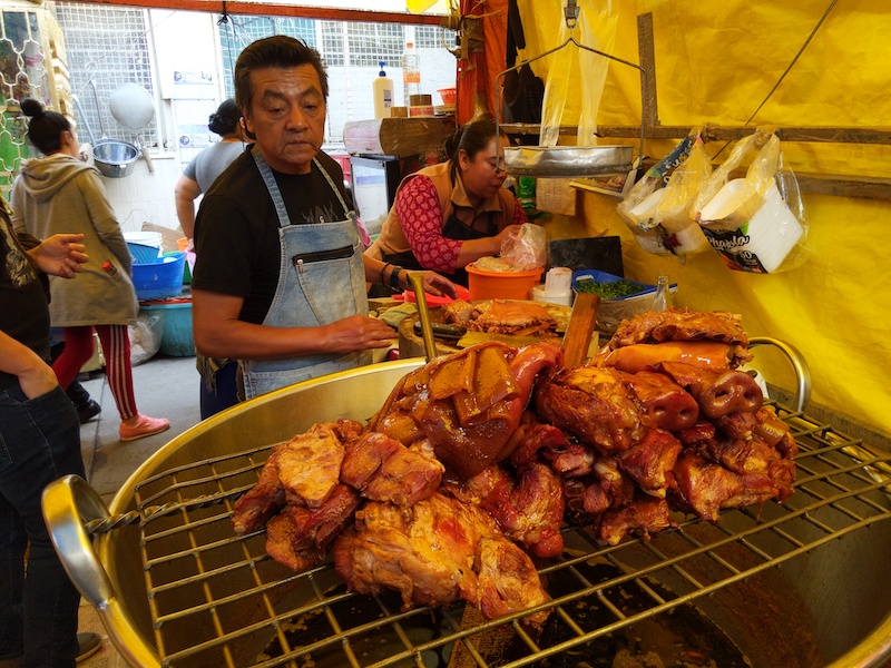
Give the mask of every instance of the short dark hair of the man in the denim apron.
[[251, 72], [267, 67], [296, 67], [312, 65], [322, 82], [322, 95], [327, 100], [327, 71], [322, 56], [304, 41], [276, 35], [258, 39], [248, 45], [235, 61], [235, 101], [239, 109], [251, 109], [254, 91], [251, 88]]

